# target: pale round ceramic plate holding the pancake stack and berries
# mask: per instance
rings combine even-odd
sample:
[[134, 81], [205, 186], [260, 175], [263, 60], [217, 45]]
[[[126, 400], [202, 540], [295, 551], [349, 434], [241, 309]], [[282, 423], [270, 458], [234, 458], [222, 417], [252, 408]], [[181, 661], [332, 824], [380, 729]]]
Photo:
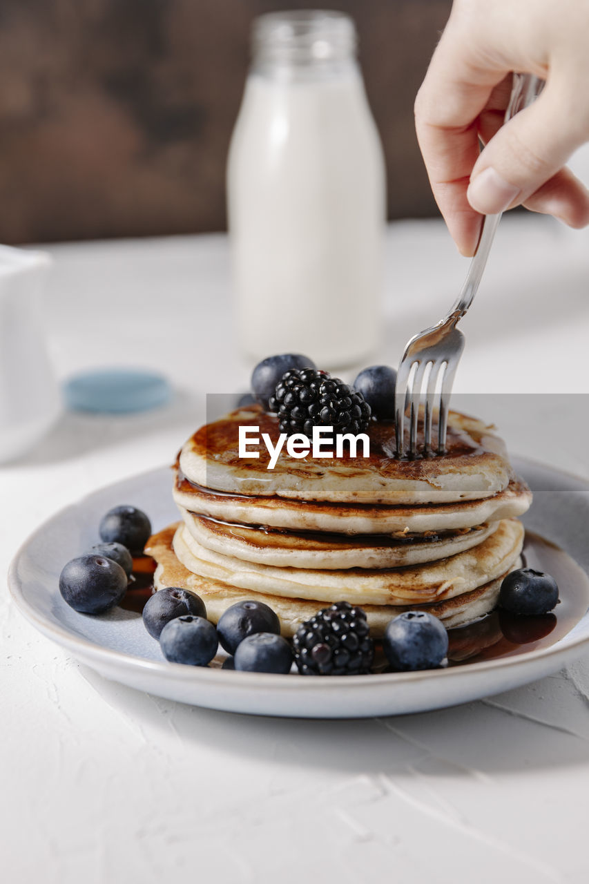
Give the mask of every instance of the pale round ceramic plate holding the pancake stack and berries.
[[[534, 492], [527, 527], [561, 546], [589, 574], [589, 484], [531, 461], [514, 461], [514, 466]], [[12, 561], [9, 585], [20, 611], [105, 678], [228, 712], [363, 718], [425, 712], [509, 690], [555, 672], [589, 643], [585, 613], [549, 647], [427, 672], [303, 678], [167, 663], [139, 614], [120, 608], [97, 617], [76, 613], [61, 598], [57, 580], [67, 560], [97, 542], [100, 518], [113, 506], [141, 507], [154, 530], [175, 521], [171, 484], [170, 470], [157, 469], [90, 494], [45, 522]], [[561, 594], [566, 595], [566, 587], [561, 586]]]

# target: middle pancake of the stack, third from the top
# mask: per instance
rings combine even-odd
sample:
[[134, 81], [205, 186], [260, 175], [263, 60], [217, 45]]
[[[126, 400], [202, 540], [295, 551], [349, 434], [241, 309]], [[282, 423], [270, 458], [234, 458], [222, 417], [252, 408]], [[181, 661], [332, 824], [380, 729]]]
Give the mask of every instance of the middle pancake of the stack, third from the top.
[[401, 568], [445, 559], [488, 537], [498, 522], [428, 535], [298, 533], [218, 522], [181, 510], [192, 537], [208, 550], [276, 568]]

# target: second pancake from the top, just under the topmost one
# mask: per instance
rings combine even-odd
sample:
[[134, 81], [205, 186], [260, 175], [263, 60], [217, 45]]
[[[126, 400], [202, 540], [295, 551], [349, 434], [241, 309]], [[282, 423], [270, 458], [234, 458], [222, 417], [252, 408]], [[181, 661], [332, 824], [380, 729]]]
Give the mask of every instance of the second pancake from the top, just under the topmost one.
[[530, 507], [532, 492], [516, 476], [508, 487], [491, 498], [411, 506], [345, 504], [279, 497], [248, 497], [213, 492], [190, 483], [176, 469], [172, 490], [180, 509], [209, 515], [222, 522], [268, 525], [292, 531], [330, 531], [341, 534], [393, 534], [409, 531], [448, 531], [472, 528], [522, 515]]

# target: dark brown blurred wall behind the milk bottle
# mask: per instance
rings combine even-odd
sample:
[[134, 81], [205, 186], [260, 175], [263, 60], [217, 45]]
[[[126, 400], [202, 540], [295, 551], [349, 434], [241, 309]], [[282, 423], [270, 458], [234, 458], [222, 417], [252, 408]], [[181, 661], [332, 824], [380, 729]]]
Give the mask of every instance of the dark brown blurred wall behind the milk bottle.
[[[451, 0], [337, 0], [360, 34], [389, 217], [437, 212], [413, 100]], [[249, 24], [296, 0], [2, 0], [0, 241], [223, 230]]]

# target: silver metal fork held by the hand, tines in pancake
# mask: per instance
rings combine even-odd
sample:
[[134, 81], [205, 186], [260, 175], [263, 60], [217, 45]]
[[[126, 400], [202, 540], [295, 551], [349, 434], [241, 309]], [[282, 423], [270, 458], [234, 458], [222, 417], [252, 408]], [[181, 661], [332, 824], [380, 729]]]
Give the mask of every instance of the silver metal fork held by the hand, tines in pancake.
[[[532, 103], [539, 95], [544, 81], [527, 73], [514, 73], [511, 95], [504, 122], [515, 117], [518, 110]], [[463, 354], [464, 335], [456, 328], [477, 293], [486, 259], [489, 256], [497, 226], [498, 215], [486, 215], [478, 240], [477, 251], [470, 262], [469, 271], [457, 301], [440, 322], [420, 331], [409, 340], [399, 370], [394, 394], [394, 425], [396, 433], [396, 456], [405, 456], [405, 417], [409, 406], [409, 458], [417, 456], [417, 419], [422, 386], [425, 385], [424, 449], [425, 456], [432, 454], [432, 425], [436, 391], [440, 397], [438, 419], [437, 453], [446, 452], [447, 412], [452, 385], [458, 362]], [[428, 372], [429, 367], [429, 372]], [[426, 384], [425, 384], [426, 380]]]

